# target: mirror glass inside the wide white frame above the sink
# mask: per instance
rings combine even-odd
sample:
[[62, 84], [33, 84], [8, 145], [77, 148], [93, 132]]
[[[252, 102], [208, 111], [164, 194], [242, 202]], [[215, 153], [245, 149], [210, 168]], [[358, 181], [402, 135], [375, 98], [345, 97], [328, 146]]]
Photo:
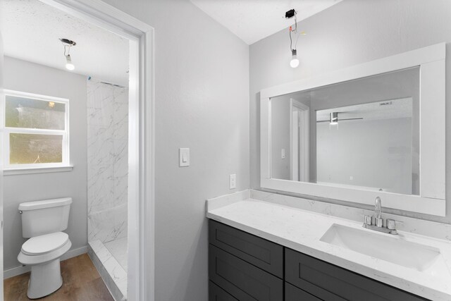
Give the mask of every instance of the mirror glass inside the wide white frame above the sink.
[[271, 178], [419, 195], [419, 69], [272, 97]]

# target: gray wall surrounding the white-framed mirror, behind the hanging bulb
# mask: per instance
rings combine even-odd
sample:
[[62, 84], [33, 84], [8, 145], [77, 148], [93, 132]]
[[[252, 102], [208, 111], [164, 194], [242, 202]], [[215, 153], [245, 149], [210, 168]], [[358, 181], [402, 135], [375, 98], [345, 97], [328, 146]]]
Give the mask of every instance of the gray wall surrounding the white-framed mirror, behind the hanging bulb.
[[[309, 78], [347, 66], [399, 54], [440, 42], [451, 42], [451, 1], [437, 0], [344, 0], [299, 23], [306, 36], [299, 37], [299, 67], [290, 68], [288, 32], [280, 31], [254, 43], [250, 64], [250, 174], [251, 187], [260, 188], [259, 91], [293, 80]], [[451, 70], [451, 47], [447, 47], [447, 73]], [[447, 80], [447, 90], [451, 91]], [[447, 102], [451, 94], [447, 93]], [[451, 106], [446, 108], [451, 118]], [[451, 124], [447, 124], [446, 178], [451, 193]], [[447, 196], [447, 199], [451, 199]], [[451, 223], [451, 200], [447, 216], [422, 216]]]

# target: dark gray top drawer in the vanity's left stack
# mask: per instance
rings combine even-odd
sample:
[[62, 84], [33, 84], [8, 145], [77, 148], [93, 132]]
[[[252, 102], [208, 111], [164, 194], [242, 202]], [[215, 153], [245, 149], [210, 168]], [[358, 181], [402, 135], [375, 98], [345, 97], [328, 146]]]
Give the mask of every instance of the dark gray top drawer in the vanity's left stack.
[[283, 247], [255, 235], [209, 220], [209, 242], [236, 257], [283, 278]]

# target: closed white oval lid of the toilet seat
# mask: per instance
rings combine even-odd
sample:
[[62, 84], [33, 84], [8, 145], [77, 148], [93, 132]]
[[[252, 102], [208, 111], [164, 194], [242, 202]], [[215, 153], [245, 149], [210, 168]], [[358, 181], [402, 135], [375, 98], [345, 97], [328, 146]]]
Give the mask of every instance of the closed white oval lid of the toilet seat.
[[63, 232], [35, 236], [22, 245], [22, 252], [27, 255], [46, 254], [63, 246], [68, 240], [69, 235]]

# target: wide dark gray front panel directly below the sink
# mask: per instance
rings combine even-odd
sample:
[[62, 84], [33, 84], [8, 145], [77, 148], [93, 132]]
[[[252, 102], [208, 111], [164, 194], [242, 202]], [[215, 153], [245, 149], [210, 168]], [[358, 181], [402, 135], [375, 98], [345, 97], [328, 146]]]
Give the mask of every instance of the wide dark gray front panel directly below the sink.
[[426, 300], [288, 248], [285, 248], [285, 281], [322, 300]]

